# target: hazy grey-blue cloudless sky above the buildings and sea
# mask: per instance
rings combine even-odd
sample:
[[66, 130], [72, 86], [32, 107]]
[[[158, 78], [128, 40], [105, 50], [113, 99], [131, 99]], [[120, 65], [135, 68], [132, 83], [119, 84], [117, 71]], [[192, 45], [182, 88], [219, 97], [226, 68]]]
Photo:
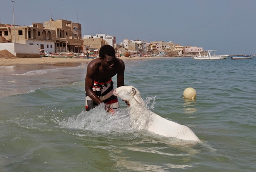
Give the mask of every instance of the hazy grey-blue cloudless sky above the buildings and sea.
[[[50, 10], [51, 8], [51, 10]], [[172, 41], [216, 54], [256, 54], [254, 0], [15, 0], [15, 24], [65, 19], [82, 36], [105, 33], [146, 41]], [[0, 22], [13, 24], [12, 2], [1, 0]]]

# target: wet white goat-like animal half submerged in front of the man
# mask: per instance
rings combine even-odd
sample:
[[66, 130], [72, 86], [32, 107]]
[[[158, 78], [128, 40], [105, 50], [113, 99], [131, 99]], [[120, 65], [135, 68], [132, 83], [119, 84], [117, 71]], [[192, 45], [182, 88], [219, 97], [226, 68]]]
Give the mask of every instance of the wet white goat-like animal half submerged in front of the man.
[[133, 86], [122, 86], [114, 90], [114, 95], [129, 101], [132, 124], [139, 130], [188, 141], [200, 141], [187, 126], [169, 121], [146, 109], [140, 92]]

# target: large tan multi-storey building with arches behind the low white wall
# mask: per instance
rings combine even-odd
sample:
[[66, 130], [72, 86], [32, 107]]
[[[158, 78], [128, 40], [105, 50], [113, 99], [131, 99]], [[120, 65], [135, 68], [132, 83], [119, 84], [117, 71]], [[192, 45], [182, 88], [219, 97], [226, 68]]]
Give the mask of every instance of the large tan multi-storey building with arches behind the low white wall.
[[[15, 33], [14, 33], [15, 30]], [[83, 45], [81, 24], [68, 20], [50, 20], [42, 23], [33, 23], [30, 26], [0, 25], [0, 36], [8, 42], [26, 45], [37, 45], [42, 51], [78, 52]]]

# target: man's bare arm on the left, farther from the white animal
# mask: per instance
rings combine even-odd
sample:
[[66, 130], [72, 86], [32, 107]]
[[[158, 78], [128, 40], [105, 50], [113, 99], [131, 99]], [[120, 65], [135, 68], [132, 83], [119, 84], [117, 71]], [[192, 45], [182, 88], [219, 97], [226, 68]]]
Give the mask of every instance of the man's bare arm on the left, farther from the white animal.
[[92, 90], [93, 84], [94, 84], [94, 73], [95, 73], [95, 67], [93, 66], [93, 64], [88, 65], [87, 73], [85, 76], [85, 92], [87, 96], [89, 96], [94, 102], [96, 102], [99, 105], [102, 103], [102, 101]]

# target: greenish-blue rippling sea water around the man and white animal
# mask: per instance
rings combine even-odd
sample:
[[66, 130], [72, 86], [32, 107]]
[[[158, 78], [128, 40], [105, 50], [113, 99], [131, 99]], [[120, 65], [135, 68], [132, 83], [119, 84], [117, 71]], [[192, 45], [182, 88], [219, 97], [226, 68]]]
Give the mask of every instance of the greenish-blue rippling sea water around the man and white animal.
[[[86, 63], [0, 66], [0, 171], [256, 170], [256, 58], [125, 65], [147, 108], [200, 143], [136, 130], [120, 99], [114, 115], [85, 112]], [[195, 100], [183, 99], [188, 87]]]

